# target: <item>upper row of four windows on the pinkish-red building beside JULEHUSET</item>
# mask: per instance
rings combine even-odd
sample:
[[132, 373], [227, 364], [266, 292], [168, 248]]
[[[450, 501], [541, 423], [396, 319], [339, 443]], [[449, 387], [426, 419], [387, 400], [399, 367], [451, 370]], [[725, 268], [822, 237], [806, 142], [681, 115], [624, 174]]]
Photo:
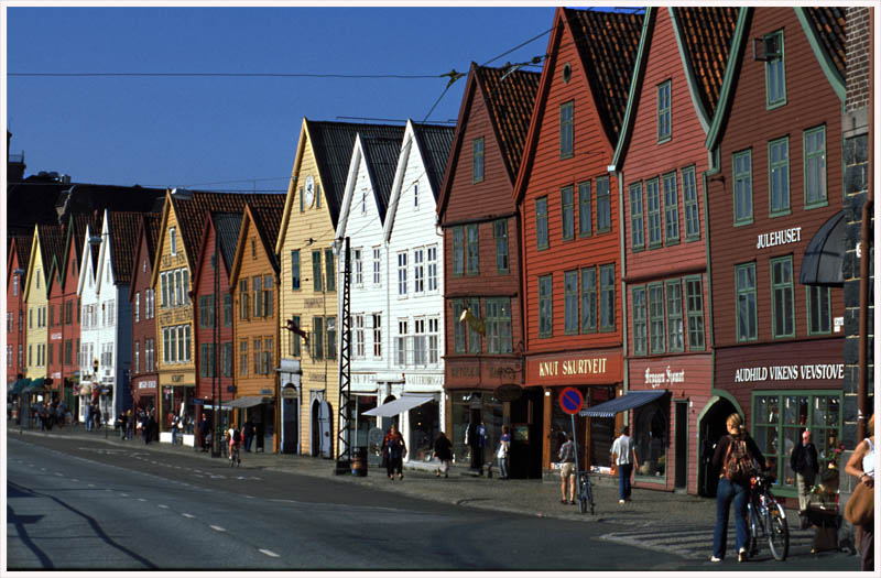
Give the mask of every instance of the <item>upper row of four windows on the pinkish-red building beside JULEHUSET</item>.
[[[700, 239], [700, 216], [697, 204], [695, 167], [683, 168], [679, 174], [682, 176], [682, 197], [685, 209], [685, 240], [696, 241]], [[645, 190], [644, 196], [643, 187]], [[681, 227], [676, 172], [673, 171], [645, 182], [632, 183], [629, 186], [629, 190], [631, 246], [633, 251], [642, 251], [646, 247], [656, 249], [664, 246], [678, 244]]]

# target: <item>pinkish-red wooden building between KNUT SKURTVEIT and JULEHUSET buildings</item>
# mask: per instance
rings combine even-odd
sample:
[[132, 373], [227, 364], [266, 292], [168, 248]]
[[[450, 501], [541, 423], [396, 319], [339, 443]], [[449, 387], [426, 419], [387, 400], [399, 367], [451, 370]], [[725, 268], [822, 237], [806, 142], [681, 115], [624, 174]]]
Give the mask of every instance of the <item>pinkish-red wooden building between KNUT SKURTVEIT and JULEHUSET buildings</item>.
[[[698, 416], [713, 389], [704, 142], [737, 14], [736, 8], [646, 9], [611, 163], [624, 206], [628, 391], [662, 393], [629, 416], [635, 482], [648, 488], [697, 493], [705, 472], [703, 436], [693, 435], [705, 433]], [[707, 415], [709, 427], [724, 428], [724, 417]]]

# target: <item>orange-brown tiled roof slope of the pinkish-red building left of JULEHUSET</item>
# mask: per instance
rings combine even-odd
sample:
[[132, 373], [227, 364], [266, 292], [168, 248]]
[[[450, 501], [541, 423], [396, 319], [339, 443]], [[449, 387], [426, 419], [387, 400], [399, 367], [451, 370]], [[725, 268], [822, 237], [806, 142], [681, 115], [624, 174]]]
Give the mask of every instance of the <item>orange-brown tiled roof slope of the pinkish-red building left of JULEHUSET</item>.
[[689, 7], [673, 10], [682, 26], [683, 46], [692, 63], [700, 99], [711, 118], [719, 103], [739, 9]]

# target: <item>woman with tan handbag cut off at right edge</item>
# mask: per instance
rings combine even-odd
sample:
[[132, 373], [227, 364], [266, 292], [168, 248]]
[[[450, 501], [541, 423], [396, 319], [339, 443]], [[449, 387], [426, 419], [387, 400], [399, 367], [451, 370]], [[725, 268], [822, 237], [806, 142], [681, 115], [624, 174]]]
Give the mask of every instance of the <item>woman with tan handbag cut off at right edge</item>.
[[862, 532], [859, 539], [862, 571], [874, 570], [874, 414], [869, 418], [868, 433], [872, 435], [859, 443], [845, 466], [845, 472], [859, 479], [847, 502], [845, 517]]

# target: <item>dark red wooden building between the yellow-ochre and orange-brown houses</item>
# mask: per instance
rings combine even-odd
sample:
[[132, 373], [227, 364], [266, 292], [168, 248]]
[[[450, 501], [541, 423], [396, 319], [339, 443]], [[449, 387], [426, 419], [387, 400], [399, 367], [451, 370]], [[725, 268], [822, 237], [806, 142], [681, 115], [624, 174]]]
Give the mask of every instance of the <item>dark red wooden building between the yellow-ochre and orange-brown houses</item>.
[[[202, 248], [193, 275], [196, 329], [196, 423], [207, 415], [211, 428], [228, 427], [229, 415], [215, 411], [236, 397], [232, 348], [232, 295], [229, 274], [236, 257], [241, 212], [209, 211], [202, 233]], [[215, 422], [216, 421], [216, 422]], [[204, 432], [198, 432], [204, 435]]]

